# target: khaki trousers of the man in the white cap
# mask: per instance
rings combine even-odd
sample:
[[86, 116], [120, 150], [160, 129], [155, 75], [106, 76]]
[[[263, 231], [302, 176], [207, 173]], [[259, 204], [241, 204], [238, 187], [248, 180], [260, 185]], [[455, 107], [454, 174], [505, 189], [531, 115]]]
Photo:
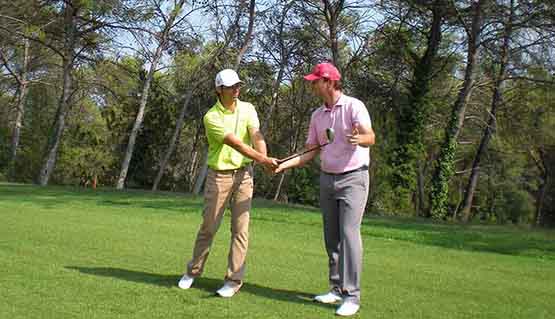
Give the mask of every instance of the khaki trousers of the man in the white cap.
[[252, 195], [251, 165], [229, 171], [208, 170], [204, 190], [203, 221], [197, 234], [193, 258], [187, 264], [189, 276], [198, 277], [202, 274], [225, 208], [230, 204], [231, 245], [225, 280], [242, 284], [249, 244], [249, 211]]

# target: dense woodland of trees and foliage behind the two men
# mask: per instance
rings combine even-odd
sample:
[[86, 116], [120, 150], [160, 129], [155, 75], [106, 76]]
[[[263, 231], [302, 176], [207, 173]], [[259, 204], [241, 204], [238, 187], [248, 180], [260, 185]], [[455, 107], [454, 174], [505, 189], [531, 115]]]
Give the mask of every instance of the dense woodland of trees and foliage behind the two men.
[[[238, 69], [270, 155], [284, 157], [319, 103], [302, 75], [329, 60], [376, 132], [369, 214], [555, 224], [551, 4], [176, 3], [2, 2], [0, 178], [44, 184], [52, 167], [50, 183], [115, 186], [131, 149], [126, 187], [195, 191], [218, 70]], [[256, 196], [317, 205], [318, 170], [257, 167]]]

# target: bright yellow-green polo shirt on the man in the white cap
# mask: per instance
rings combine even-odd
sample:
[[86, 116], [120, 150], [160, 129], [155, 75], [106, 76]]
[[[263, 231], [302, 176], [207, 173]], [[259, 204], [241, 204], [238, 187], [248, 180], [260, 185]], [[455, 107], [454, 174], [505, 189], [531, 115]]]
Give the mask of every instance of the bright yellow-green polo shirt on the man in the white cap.
[[235, 112], [226, 109], [220, 101], [204, 115], [204, 129], [208, 139], [208, 167], [215, 170], [237, 169], [252, 162], [248, 157], [224, 144], [224, 137], [233, 133], [243, 143], [252, 145], [249, 128], [259, 128], [260, 122], [254, 106], [237, 100]]

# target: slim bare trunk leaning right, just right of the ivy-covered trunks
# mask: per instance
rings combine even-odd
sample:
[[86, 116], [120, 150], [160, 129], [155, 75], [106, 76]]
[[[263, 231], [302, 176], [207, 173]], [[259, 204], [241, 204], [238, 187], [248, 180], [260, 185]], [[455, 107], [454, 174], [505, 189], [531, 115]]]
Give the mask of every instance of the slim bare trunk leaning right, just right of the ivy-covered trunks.
[[470, 209], [472, 207], [472, 200], [474, 198], [474, 192], [476, 191], [476, 185], [478, 185], [478, 173], [479, 173], [479, 166], [482, 156], [486, 152], [488, 147], [489, 141], [491, 140], [492, 135], [495, 133], [496, 128], [496, 114], [499, 104], [502, 100], [502, 85], [505, 78], [505, 72], [507, 68], [507, 64], [509, 62], [509, 45], [513, 30], [513, 21], [514, 21], [514, 9], [515, 9], [515, 0], [511, 0], [511, 8], [510, 8], [510, 15], [509, 21], [505, 27], [505, 35], [503, 38], [503, 47], [501, 48], [501, 65], [499, 66], [499, 72], [495, 79], [495, 85], [493, 88], [493, 98], [491, 101], [491, 109], [489, 111], [489, 120], [487, 127], [484, 130], [484, 134], [482, 136], [482, 140], [480, 141], [480, 146], [478, 147], [478, 152], [474, 157], [474, 161], [472, 163], [472, 173], [470, 174], [470, 178], [468, 181], [468, 185], [466, 187], [464, 204], [462, 207], [461, 215], [463, 222], [468, 222], [470, 219]]

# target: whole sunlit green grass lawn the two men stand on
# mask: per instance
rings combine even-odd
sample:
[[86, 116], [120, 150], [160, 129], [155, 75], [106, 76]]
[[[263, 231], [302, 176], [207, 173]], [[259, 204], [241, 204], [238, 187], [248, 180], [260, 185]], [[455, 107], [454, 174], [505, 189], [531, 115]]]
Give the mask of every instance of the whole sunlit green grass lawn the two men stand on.
[[[0, 318], [334, 318], [318, 210], [257, 200], [246, 283], [222, 284], [229, 218], [176, 287], [202, 199], [0, 184]], [[358, 318], [555, 318], [555, 234], [368, 218]]]

